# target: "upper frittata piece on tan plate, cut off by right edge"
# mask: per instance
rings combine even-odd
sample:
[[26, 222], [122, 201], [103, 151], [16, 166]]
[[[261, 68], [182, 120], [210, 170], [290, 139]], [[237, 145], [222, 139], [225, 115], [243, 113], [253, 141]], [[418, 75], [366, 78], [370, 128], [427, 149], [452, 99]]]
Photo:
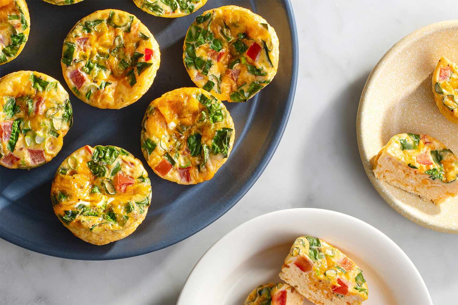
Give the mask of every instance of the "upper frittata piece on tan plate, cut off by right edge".
[[458, 124], [458, 65], [441, 57], [432, 75], [432, 91], [439, 111]]

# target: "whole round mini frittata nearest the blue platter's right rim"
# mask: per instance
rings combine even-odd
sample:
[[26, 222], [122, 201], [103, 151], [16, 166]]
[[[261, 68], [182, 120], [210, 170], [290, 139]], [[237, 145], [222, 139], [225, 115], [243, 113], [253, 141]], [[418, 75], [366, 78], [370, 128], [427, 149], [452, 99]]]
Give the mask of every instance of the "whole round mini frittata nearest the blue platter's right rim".
[[191, 24], [183, 61], [196, 86], [221, 101], [246, 102], [277, 74], [278, 44], [264, 18], [239, 6], [222, 6]]

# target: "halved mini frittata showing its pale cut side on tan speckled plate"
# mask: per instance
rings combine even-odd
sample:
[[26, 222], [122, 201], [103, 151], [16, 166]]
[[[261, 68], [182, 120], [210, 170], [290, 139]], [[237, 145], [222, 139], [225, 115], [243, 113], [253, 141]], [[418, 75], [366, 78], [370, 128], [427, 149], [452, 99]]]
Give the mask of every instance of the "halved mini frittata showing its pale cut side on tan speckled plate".
[[442, 203], [458, 193], [458, 159], [427, 134], [396, 134], [374, 158], [377, 179]]

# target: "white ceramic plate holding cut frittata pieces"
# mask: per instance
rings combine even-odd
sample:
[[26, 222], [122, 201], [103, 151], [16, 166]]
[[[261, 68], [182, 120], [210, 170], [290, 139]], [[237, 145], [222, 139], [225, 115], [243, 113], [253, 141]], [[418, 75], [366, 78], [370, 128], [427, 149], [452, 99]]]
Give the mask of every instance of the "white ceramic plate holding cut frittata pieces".
[[319, 237], [354, 260], [369, 287], [364, 305], [432, 305], [420, 273], [392, 240], [359, 219], [324, 209], [276, 211], [230, 231], [197, 262], [177, 305], [243, 304], [259, 284], [281, 281], [283, 260], [301, 235]]

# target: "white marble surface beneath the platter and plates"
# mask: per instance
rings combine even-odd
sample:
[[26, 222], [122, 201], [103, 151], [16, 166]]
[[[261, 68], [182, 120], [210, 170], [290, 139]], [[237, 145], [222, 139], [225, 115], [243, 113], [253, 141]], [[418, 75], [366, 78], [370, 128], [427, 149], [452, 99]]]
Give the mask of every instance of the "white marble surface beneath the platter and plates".
[[[415, 225], [382, 200], [365, 175], [355, 131], [360, 94], [378, 59], [410, 32], [456, 18], [456, 0], [293, 5], [300, 39], [296, 99], [277, 152], [245, 197], [187, 240], [119, 261], [48, 257], [1, 240], [1, 304], [175, 304], [194, 264], [221, 236], [258, 215], [295, 207], [336, 210], [375, 226], [414, 262], [434, 304], [456, 303], [458, 235]], [[285, 156], [298, 165], [288, 166]]]

